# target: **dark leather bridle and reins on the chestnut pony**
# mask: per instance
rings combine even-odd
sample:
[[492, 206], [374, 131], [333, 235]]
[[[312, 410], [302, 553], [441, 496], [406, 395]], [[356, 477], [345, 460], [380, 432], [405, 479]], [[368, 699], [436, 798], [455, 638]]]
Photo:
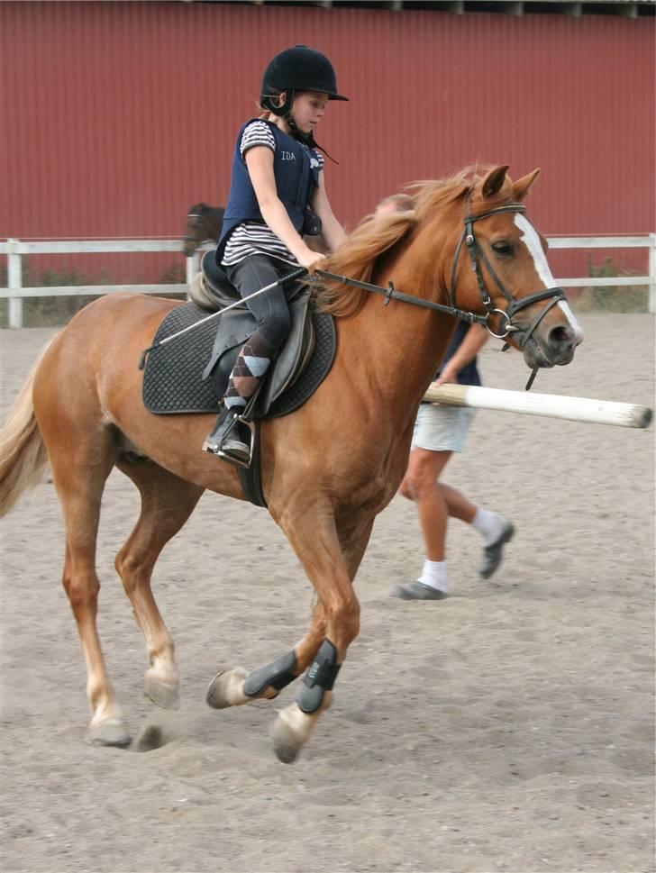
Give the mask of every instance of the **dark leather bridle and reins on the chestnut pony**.
[[[538, 324], [542, 322], [544, 316], [549, 312], [552, 306], [556, 305], [560, 300], [565, 300], [565, 292], [560, 287], [552, 287], [552, 288], [543, 288], [542, 291], [536, 291], [533, 294], [530, 294], [526, 297], [523, 297], [521, 300], [515, 299], [514, 296], [507, 290], [504, 283], [497, 276], [497, 273], [492, 268], [492, 265], [487, 259], [487, 255], [484, 250], [482, 250], [478, 244], [476, 239], [476, 234], [474, 232], [474, 223], [482, 221], [483, 219], [489, 218], [492, 215], [498, 215], [502, 213], [525, 213], [526, 207], [521, 203], [509, 203], [504, 206], [497, 206], [495, 209], [490, 209], [485, 213], [481, 213], [480, 215], [467, 215], [464, 219], [465, 227], [460, 235], [460, 240], [458, 241], [458, 245], [456, 246], [455, 255], [453, 256], [453, 264], [451, 267], [451, 283], [449, 286], [449, 305], [443, 305], [439, 303], [433, 303], [432, 300], [424, 300], [422, 297], [417, 297], [410, 294], [403, 294], [401, 291], [397, 291], [394, 283], [389, 281], [387, 288], [383, 288], [378, 285], [372, 285], [369, 282], [360, 282], [357, 279], [351, 279], [346, 276], [338, 276], [335, 273], [329, 273], [323, 269], [317, 269], [316, 275], [319, 277], [325, 277], [333, 279], [335, 282], [339, 282], [341, 285], [350, 285], [355, 288], [361, 288], [364, 291], [370, 291], [373, 294], [379, 294], [384, 296], [385, 304], [388, 305], [390, 300], [399, 300], [402, 303], [409, 303], [415, 306], [423, 306], [424, 309], [432, 309], [435, 312], [445, 313], [449, 315], [454, 315], [456, 318], [460, 318], [464, 322], [468, 322], [469, 324], [482, 324], [490, 336], [495, 337], [497, 340], [506, 340], [506, 338], [511, 333], [522, 333], [523, 336], [519, 341], [520, 350], [524, 349], [526, 342], [530, 339], [533, 332], [537, 328]], [[462, 250], [462, 243], [466, 244], [467, 251], [469, 252], [469, 260], [471, 261], [471, 268], [474, 271], [476, 276], [476, 280], [478, 282], [478, 289], [480, 291], [480, 296], [483, 301], [483, 305], [487, 310], [487, 314], [478, 315], [476, 313], [469, 312], [468, 310], [460, 309], [456, 306], [455, 296], [456, 296], [456, 273], [458, 270], [458, 263], [460, 260], [460, 251]], [[506, 297], [508, 301], [508, 306], [506, 309], [497, 309], [494, 305], [492, 298], [489, 296], [489, 292], [487, 291], [487, 286], [485, 284], [485, 278], [481, 273], [480, 262], [485, 264], [490, 276], [494, 279], [497, 288], [502, 293], [503, 296]], [[544, 305], [540, 312], [535, 316], [533, 322], [524, 330], [513, 324], [513, 318], [518, 312], [521, 312], [527, 306], [532, 306], [535, 303], [539, 303], [541, 300], [548, 300], [549, 303]], [[503, 325], [503, 333], [495, 333], [490, 327], [489, 320], [492, 315], [500, 315], [502, 319], [506, 319], [506, 323]], [[504, 351], [508, 349], [508, 343], [506, 342], [504, 345]], [[529, 388], [533, 385], [533, 380], [536, 377], [538, 372], [538, 368], [534, 368], [529, 380], [526, 384], [525, 390], [528, 391]]]

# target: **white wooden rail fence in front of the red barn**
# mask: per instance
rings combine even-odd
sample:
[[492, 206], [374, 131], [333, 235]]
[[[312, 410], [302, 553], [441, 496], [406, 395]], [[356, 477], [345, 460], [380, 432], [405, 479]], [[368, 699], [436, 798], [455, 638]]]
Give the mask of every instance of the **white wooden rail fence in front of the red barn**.
[[[550, 249], [648, 249], [648, 276], [606, 276], [556, 279], [562, 287], [649, 286], [649, 311], [656, 313], [656, 233], [643, 236], [550, 237]], [[187, 284], [179, 285], [71, 285], [23, 287], [23, 255], [79, 254], [89, 252], [182, 251], [179, 240], [108, 240], [31, 242], [6, 240], [0, 242], [0, 255], [7, 256], [8, 287], [0, 288], [0, 298], [9, 300], [9, 326], [23, 327], [23, 299], [61, 295], [98, 295], [114, 291], [138, 291], [142, 294], [185, 294], [188, 283], [196, 275], [198, 252], [187, 258]]]

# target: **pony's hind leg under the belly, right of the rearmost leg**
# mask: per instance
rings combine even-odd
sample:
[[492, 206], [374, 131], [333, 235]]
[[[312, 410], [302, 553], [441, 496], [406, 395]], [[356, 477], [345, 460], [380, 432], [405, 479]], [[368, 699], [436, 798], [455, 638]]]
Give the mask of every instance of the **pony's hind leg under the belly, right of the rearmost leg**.
[[144, 691], [153, 703], [178, 707], [178, 668], [173, 641], [162, 621], [150, 588], [150, 576], [160, 551], [192, 514], [203, 488], [184, 482], [149, 460], [119, 459], [117, 466], [141, 492], [141, 514], [115, 566], [130, 598], [148, 650]]

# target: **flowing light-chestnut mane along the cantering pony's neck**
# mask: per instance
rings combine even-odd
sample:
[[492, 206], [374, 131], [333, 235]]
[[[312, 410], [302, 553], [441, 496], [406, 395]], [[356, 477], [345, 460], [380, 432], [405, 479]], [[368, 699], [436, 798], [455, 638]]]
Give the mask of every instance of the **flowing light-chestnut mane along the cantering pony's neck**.
[[[481, 177], [480, 168], [465, 168], [459, 173], [407, 187], [415, 208], [387, 215], [366, 215], [349, 238], [329, 260], [328, 270], [340, 276], [370, 282], [381, 257], [405, 241], [412, 232], [445, 206], [469, 195]], [[367, 292], [338, 282], [325, 282], [317, 295], [319, 307], [336, 317], [360, 312]]]

